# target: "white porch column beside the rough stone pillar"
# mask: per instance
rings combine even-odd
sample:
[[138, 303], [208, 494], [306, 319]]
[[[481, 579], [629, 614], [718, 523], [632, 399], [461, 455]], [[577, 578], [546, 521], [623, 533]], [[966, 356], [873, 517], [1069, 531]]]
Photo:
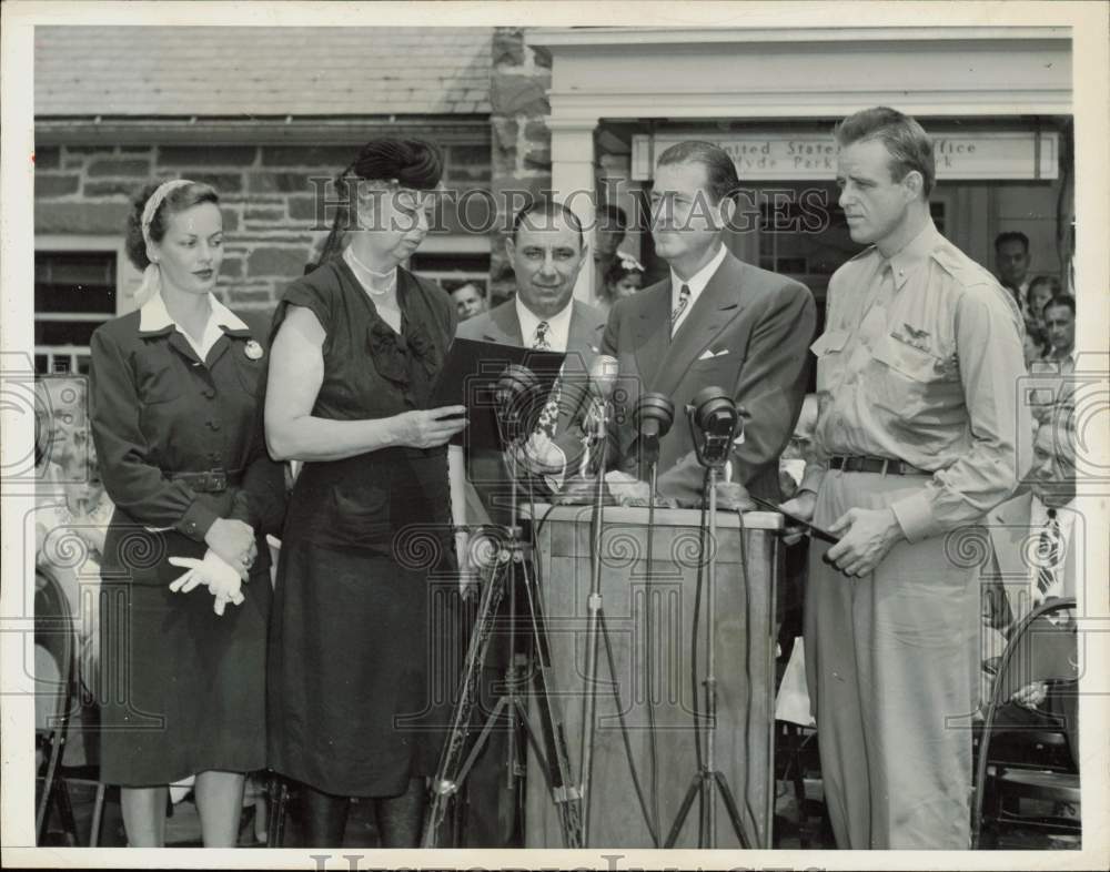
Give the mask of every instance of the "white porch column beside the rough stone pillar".
[[[552, 189], [554, 196], [566, 203], [586, 231], [586, 243], [594, 242], [594, 129], [596, 118], [561, 119], [553, 116], [547, 125], [552, 131]], [[594, 300], [594, 257], [586, 255], [586, 263], [578, 273], [574, 295], [584, 303]]]

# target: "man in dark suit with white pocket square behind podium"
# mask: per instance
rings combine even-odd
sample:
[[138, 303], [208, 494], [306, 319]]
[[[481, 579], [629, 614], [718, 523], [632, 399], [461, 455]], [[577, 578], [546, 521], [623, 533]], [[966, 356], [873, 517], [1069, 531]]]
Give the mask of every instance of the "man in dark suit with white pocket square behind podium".
[[652, 191], [652, 236], [670, 275], [617, 302], [602, 343], [619, 362], [614, 398], [620, 468], [639, 478], [638, 434], [632, 413], [642, 393], [666, 394], [675, 423], [662, 440], [659, 491], [682, 505], [702, 498], [684, 408], [710, 385], [747, 412], [744, 440], [731, 453], [731, 481], [719, 505], [747, 508], [744, 488], [779, 498], [778, 456], [801, 409], [816, 313], [798, 282], [734, 257], [723, 242], [736, 214], [739, 180], [731, 159], [707, 142], [683, 142], [659, 158]]

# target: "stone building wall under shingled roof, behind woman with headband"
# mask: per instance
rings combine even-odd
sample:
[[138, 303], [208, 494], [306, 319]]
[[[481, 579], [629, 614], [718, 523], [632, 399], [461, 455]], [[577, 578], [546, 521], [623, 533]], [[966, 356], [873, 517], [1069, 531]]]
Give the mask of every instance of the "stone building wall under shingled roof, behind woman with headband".
[[[444, 146], [444, 183], [490, 183], [490, 145]], [[153, 180], [209, 182], [220, 194], [225, 256], [218, 293], [242, 308], [272, 308], [281, 290], [303, 274], [333, 213], [317, 216], [313, 179], [330, 179], [356, 145], [60, 145], [36, 152], [37, 234], [122, 235], [130, 199]], [[321, 189], [329, 199], [331, 186]], [[448, 216], [447, 225], [456, 224]], [[456, 227], [457, 229], [457, 227]]]

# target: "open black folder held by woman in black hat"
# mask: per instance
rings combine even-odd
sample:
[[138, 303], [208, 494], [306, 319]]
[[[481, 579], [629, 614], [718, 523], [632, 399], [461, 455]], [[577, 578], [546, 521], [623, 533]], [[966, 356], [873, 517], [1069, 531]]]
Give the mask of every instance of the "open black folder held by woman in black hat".
[[453, 444], [502, 450], [495, 392], [505, 368], [515, 364], [536, 376], [539, 387], [536, 402], [531, 405], [538, 412], [551, 395], [564, 357], [566, 355], [558, 352], [456, 338], [447, 349], [447, 359], [435, 382], [430, 406], [466, 406], [470, 426], [452, 439]]

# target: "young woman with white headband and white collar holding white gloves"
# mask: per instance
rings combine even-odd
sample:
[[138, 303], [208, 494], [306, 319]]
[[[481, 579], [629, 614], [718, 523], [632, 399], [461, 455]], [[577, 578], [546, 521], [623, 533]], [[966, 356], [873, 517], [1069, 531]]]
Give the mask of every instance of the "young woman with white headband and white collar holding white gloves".
[[[92, 433], [115, 504], [101, 566], [101, 780], [122, 787], [134, 846], [162, 845], [168, 785], [190, 774], [204, 844], [233, 846], [243, 774], [265, 765], [264, 535], [281, 523], [284, 483], [256, 414], [265, 334], [212, 294], [222, 244], [209, 185], [143, 191], [128, 222], [141, 306], [91, 343]], [[195, 567], [185, 587], [215, 599], [174, 584], [182, 565]]]

